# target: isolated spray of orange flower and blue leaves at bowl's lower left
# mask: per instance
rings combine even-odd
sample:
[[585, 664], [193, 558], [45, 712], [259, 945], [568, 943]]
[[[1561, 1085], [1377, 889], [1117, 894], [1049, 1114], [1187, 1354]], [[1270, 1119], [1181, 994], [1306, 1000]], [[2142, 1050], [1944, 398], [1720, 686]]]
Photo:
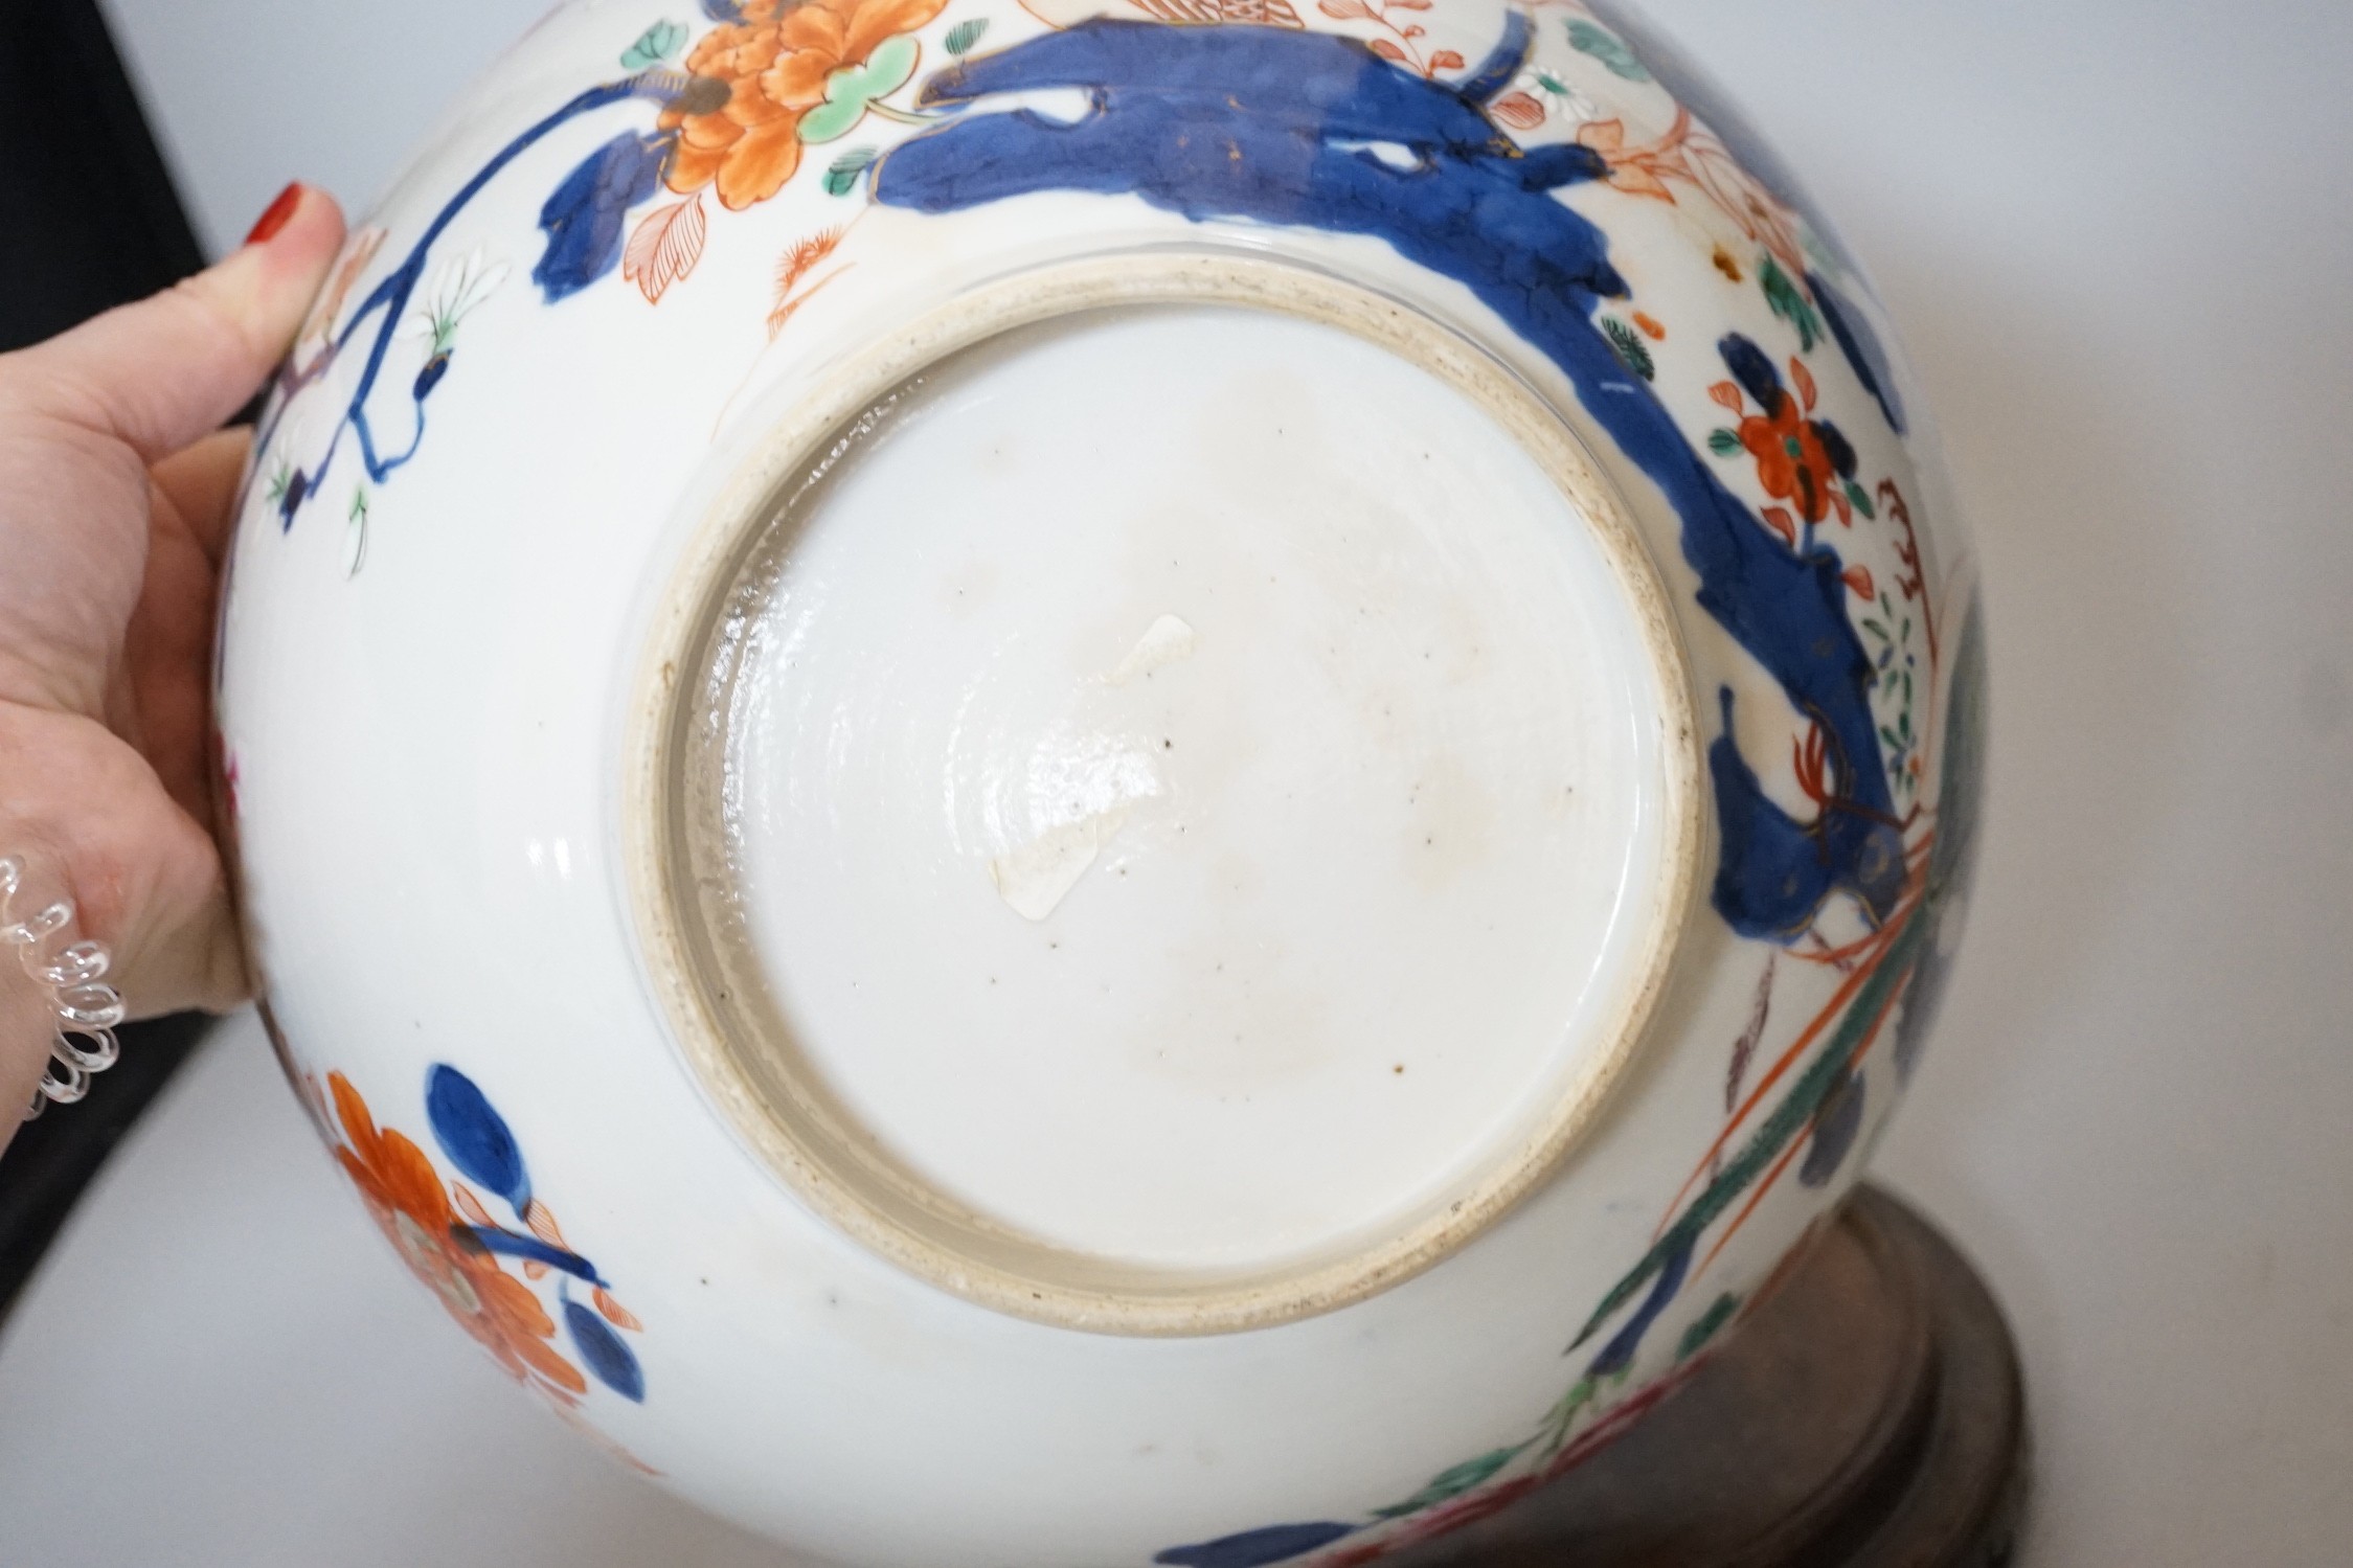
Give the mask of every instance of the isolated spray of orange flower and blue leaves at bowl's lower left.
[[[367, 1100], [341, 1072], [327, 1074], [320, 1119], [334, 1140], [334, 1157], [386, 1239], [426, 1281], [449, 1316], [471, 1333], [518, 1382], [558, 1406], [588, 1394], [588, 1368], [614, 1394], [645, 1401], [645, 1373], [621, 1331], [642, 1324], [614, 1300], [595, 1267], [565, 1241], [555, 1215], [532, 1194], [506, 1121], [482, 1091], [456, 1067], [438, 1065], [426, 1077], [426, 1121], [442, 1157], [466, 1180], [445, 1180], [433, 1159], [405, 1133], [379, 1128]], [[520, 1229], [501, 1225], [482, 1192], [506, 1204]], [[506, 1272], [515, 1260], [522, 1276]], [[558, 1349], [558, 1316], [527, 1281], [553, 1276], [555, 1312], [579, 1361]], [[584, 1288], [588, 1302], [572, 1295]]]

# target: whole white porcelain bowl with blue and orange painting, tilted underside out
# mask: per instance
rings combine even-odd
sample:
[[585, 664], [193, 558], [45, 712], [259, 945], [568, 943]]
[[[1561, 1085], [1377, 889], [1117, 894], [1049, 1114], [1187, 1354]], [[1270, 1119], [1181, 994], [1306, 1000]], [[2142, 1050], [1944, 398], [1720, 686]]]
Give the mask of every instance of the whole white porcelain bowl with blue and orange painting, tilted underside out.
[[278, 376], [287, 1074], [624, 1462], [866, 1563], [1355, 1563], [1574, 1467], [1951, 961], [1967, 548], [1617, 5], [558, 7]]

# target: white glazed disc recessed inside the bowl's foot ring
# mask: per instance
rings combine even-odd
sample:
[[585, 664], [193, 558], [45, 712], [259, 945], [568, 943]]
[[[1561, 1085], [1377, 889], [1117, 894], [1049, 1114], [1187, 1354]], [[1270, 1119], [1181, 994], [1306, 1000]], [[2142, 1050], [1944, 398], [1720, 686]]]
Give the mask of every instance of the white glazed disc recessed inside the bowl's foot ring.
[[774, 574], [727, 717], [760, 959], [981, 1213], [1266, 1267], [1607, 1044], [1654, 672], [1562, 494], [1417, 367], [1245, 310], [1059, 329], [929, 376]]

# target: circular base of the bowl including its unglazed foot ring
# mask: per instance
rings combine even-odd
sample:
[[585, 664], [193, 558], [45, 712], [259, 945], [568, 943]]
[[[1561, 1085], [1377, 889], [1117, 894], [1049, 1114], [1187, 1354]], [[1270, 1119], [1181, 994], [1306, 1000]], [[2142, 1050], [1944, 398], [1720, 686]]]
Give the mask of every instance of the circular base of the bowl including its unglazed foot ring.
[[779, 1171], [948, 1288], [1341, 1305], [1638, 1044], [1697, 853], [1666, 625], [1442, 327], [1242, 259], [1016, 282], [713, 512], [638, 748], [654, 971]]

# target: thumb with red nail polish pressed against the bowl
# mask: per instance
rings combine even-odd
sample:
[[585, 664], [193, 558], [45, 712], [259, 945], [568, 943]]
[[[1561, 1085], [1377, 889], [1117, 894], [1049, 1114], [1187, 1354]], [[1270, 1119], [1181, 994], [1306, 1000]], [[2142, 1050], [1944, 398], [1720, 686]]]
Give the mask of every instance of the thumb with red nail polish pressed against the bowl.
[[165, 458], [261, 388], [341, 242], [334, 197], [287, 186], [216, 266], [0, 355], [0, 400], [120, 440], [148, 463]]

